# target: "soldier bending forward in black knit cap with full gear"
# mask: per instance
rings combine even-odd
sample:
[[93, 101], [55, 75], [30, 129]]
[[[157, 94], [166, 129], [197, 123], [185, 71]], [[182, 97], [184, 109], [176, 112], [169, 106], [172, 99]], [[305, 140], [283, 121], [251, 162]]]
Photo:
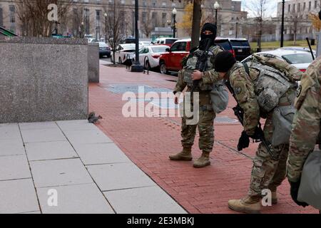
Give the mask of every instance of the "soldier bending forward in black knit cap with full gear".
[[[238, 212], [259, 213], [262, 191], [270, 190], [272, 204], [276, 204], [277, 187], [286, 176], [290, 130], [286, 137], [285, 131], [277, 128], [282, 123], [292, 123], [295, 81], [300, 80], [302, 72], [285, 61], [262, 56], [254, 56], [252, 62], [243, 65], [227, 51], [216, 56], [215, 71], [229, 81], [235, 99], [244, 111], [244, 131], [238, 150], [248, 147], [249, 138], [263, 138], [265, 142], [260, 143], [253, 160], [248, 195], [243, 199], [230, 200], [228, 206]], [[260, 118], [266, 118], [263, 132], [258, 128]]]

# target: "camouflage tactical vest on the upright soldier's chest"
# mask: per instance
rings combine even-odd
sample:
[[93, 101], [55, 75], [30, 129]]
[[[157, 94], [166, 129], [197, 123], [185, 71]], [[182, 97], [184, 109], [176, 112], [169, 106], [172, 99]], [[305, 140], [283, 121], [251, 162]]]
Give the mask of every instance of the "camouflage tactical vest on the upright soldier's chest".
[[[213, 56], [216, 56], [218, 51], [220, 50], [219, 46], [211, 46], [210, 49], [208, 50], [208, 60], [207, 60], [207, 68], [205, 71], [209, 71], [214, 68], [213, 63], [210, 61]], [[193, 53], [188, 56], [188, 60], [186, 63], [186, 66], [183, 68], [183, 81], [187, 83], [188, 86], [193, 87], [193, 80], [192, 80], [192, 73], [195, 71], [196, 64], [198, 63], [198, 58], [202, 56], [203, 51], [200, 49], [197, 49]], [[206, 84], [200, 86], [200, 90], [213, 90], [213, 85]]]

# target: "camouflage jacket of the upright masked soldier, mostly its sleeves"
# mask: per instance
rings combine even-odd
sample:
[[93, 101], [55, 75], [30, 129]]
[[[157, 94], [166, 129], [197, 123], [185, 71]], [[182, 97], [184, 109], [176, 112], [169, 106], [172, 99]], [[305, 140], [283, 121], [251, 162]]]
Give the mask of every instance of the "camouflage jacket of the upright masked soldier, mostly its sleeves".
[[[196, 49], [196, 51], [197, 50], [198, 49]], [[223, 51], [223, 50], [219, 48], [218, 51], [213, 56], [210, 57], [210, 63], [212, 66], [214, 66], [216, 54], [220, 51]], [[190, 55], [183, 58], [183, 61], [182, 61], [183, 66], [184, 64], [187, 63], [189, 57]], [[188, 83], [186, 83], [186, 81], [184, 80], [184, 71], [185, 71], [185, 66], [182, 70], [178, 71], [178, 81], [173, 90], [174, 94], [177, 92], [182, 92], [185, 89], [185, 87], [188, 86]], [[221, 79], [219, 78], [218, 73], [215, 71], [214, 68], [212, 68], [202, 73], [202, 79], [200, 80], [199, 85], [200, 85], [200, 88], [207, 87], [206, 85], [212, 85], [213, 83], [216, 83], [220, 80]], [[190, 90], [190, 88], [188, 88], [188, 90]]]

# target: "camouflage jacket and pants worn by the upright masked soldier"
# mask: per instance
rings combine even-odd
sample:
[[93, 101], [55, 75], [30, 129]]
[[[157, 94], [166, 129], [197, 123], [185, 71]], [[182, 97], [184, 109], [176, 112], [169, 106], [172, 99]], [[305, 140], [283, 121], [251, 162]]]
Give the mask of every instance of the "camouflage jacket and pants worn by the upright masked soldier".
[[[195, 52], [197, 52], [199, 49], [197, 49]], [[213, 56], [210, 56], [208, 58], [208, 70], [213, 68], [214, 61], [215, 61], [215, 55], [223, 51], [218, 46], [212, 46], [210, 47], [210, 50], [213, 51]], [[184, 68], [178, 72], [178, 82], [176, 83], [176, 86], [173, 90], [173, 93], [182, 92], [185, 87], [187, 86], [186, 92], [191, 92], [193, 88], [193, 81], [186, 79], [186, 77], [190, 77], [190, 74], [193, 73], [194, 69], [189, 68], [189, 61], [188, 59], [191, 56], [188, 56], [187, 58], [183, 59], [187, 66], [184, 66]], [[196, 128], [198, 128], [198, 132], [200, 134], [199, 139], [199, 147], [200, 150], [206, 153], [210, 153], [213, 150], [213, 144], [214, 144], [214, 128], [213, 128], [213, 121], [215, 118], [215, 112], [213, 111], [213, 108], [211, 106], [211, 100], [210, 100], [210, 90], [213, 86], [213, 83], [216, 83], [217, 81], [220, 81], [218, 78], [218, 74], [210, 73], [210, 71], [203, 72], [203, 77], [200, 80], [199, 88], [200, 90], [197, 90], [195, 92], [199, 93], [199, 121], [197, 125], [187, 125], [186, 120], [187, 118], [185, 115], [182, 117], [182, 127], [181, 127], [181, 144], [184, 148], [190, 148], [194, 144], [195, 134], [196, 134]], [[185, 98], [184, 98], [185, 101]], [[185, 102], [184, 102], [185, 103]], [[193, 96], [191, 96], [190, 100], [191, 108], [193, 109]]]

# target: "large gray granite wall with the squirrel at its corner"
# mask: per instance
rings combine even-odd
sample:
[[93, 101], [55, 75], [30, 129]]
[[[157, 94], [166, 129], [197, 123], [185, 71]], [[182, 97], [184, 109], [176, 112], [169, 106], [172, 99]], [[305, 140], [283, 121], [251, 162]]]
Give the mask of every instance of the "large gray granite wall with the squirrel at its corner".
[[0, 123], [86, 119], [85, 39], [0, 39]]

